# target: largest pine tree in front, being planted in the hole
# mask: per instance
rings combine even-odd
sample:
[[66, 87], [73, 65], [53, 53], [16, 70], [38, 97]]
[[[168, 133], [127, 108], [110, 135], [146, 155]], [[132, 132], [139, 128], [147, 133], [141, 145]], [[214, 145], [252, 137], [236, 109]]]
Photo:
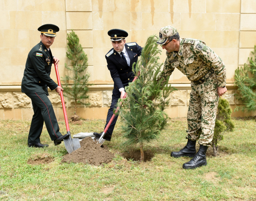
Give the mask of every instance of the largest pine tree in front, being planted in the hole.
[[[144, 160], [143, 144], [156, 139], [166, 127], [169, 117], [164, 109], [169, 104], [170, 93], [175, 90], [171, 85], [168, 86], [169, 78], [165, 82], [157, 81], [163, 63], [158, 63], [157, 55], [161, 54], [161, 50], [158, 49], [156, 41], [155, 35], [149, 36], [141, 57], [133, 64], [132, 69], [138, 79], [125, 88], [127, 98], [118, 111], [124, 123], [123, 136], [127, 138], [124, 144], [140, 145], [140, 161]], [[160, 83], [164, 83], [163, 89]], [[154, 97], [154, 100], [149, 97]], [[119, 100], [118, 105], [121, 101]]]

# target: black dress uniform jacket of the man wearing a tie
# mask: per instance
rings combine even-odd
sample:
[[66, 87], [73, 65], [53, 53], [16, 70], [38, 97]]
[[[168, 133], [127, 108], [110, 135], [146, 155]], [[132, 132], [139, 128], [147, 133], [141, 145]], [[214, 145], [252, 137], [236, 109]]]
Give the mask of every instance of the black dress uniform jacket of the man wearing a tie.
[[142, 48], [136, 42], [126, 43], [126, 51], [130, 58], [130, 66], [128, 66], [123, 58], [112, 48], [105, 56], [108, 63], [108, 70], [114, 81], [114, 88], [120, 89], [124, 86], [128, 86], [129, 82], [132, 82], [134, 73], [132, 71], [132, 64], [138, 61], [138, 56], [141, 55]]

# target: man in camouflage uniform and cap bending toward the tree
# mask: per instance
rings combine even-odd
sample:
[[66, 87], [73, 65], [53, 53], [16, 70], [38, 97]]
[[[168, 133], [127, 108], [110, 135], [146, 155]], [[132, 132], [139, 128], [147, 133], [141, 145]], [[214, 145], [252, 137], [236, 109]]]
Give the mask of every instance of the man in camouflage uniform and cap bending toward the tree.
[[[185, 169], [207, 165], [206, 151], [211, 145], [219, 97], [226, 91], [226, 68], [221, 58], [204, 41], [182, 38], [177, 29], [165, 26], [160, 29], [157, 44], [166, 49], [166, 61], [159, 80], [165, 81], [174, 68], [191, 81], [188, 107], [187, 145], [171, 156], [193, 157], [183, 164]], [[196, 153], [196, 140], [200, 144]]]

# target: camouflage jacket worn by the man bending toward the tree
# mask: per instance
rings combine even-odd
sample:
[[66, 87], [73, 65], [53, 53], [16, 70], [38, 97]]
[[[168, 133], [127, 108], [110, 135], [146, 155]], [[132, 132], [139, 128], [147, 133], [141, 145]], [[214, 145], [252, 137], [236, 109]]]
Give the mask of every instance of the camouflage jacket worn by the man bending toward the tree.
[[197, 81], [204, 77], [207, 71], [214, 70], [218, 81], [218, 86], [226, 85], [226, 68], [221, 58], [216, 55], [211, 48], [205, 45], [204, 41], [183, 38], [180, 39], [179, 52], [173, 51], [168, 53], [164, 63], [164, 69], [160, 78], [165, 81], [176, 67], [191, 81]]

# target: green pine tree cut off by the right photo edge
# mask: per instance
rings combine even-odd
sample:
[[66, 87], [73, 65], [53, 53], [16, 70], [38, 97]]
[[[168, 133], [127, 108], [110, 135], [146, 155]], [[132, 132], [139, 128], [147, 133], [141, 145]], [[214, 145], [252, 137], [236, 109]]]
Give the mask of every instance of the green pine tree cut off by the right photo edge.
[[241, 109], [243, 112], [247, 110], [256, 110], [256, 46], [252, 52], [254, 61], [249, 59], [250, 65], [244, 64], [244, 68], [239, 67], [235, 71], [235, 84], [238, 87], [236, 97], [241, 100], [244, 105], [236, 107], [235, 111]]

